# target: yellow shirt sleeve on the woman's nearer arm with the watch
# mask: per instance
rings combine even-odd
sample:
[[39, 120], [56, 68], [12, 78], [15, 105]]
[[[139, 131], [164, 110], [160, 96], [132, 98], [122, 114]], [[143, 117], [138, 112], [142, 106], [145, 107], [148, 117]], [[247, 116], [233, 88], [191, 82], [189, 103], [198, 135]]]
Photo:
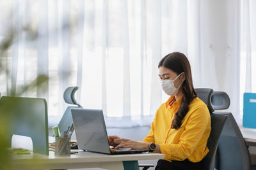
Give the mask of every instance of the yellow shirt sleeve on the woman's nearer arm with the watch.
[[184, 132], [182, 132], [178, 144], [159, 144], [161, 153], [165, 155], [164, 159], [187, 159], [202, 140], [205, 130], [209, 125], [211, 125], [211, 117], [207, 107], [196, 108], [188, 118], [186, 125], [182, 127]]

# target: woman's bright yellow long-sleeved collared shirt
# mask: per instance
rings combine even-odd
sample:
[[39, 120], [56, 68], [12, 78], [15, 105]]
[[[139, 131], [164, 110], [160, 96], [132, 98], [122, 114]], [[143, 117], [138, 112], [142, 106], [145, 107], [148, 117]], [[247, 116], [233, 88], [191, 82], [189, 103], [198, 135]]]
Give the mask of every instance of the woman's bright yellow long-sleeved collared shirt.
[[156, 111], [156, 117], [144, 142], [159, 144], [164, 160], [200, 162], [209, 152], [207, 139], [211, 132], [211, 116], [206, 104], [198, 97], [189, 104], [189, 110], [179, 129], [172, 129], [175, 113], [182, 97], [169, 106], [174, 96]]

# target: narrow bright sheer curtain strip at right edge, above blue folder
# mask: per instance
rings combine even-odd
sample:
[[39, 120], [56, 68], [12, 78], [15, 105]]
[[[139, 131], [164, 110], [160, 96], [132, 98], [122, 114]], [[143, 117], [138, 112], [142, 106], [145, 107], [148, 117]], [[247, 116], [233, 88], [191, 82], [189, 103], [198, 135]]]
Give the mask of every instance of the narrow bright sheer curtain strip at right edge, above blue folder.
[[244, 92], [256, 92], [256, 2], [241, 1], [241, 115]]

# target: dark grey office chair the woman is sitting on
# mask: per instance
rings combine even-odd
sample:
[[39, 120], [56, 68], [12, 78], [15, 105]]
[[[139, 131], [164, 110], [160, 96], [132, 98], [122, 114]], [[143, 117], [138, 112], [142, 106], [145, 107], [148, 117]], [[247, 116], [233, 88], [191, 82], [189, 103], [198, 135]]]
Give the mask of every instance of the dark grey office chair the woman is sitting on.
[[223, 126], [227, 120], [227, 116], [218, 115], [212, 113], [214, 108], [212, 106], [211, 97], [212, 97], [212, 89], [196, 89], [197, 96], [204, 101], [207, 105], [210, 115], [211, 115], [211, 134], [207, 141], [207, 147], [209, 148], [209, 153], [202, 160], [204, 164], [204, 170], [213, 170], [214, 169], [214, 160], [216, 157], [216, 151], [218, 148], [218, 143], [221, 135], [221, 131]]

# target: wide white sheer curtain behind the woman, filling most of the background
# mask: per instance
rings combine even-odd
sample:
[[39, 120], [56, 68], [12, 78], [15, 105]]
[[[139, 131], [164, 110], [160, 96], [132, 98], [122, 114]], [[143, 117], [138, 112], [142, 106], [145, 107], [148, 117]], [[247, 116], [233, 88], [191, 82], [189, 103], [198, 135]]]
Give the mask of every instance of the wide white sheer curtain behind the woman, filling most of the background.
[[[45, 74], [47, 93], [25, 96], [47, 99], [52, 124], [67, 107], [64, 90], [79, 86], [78, 101], [102, 109], [108, 127], [150, 125], [168, 99], [157, 64], [179, 51], [191, 62], [195, 87], [228, 92], [239, 115], [239, 6], [239, 0], [2, 2], [20, 36], [4, 58], [12, 77], [1, 75], [1, 93]], [[36, 41], [22, 31], [27, 24]]]

